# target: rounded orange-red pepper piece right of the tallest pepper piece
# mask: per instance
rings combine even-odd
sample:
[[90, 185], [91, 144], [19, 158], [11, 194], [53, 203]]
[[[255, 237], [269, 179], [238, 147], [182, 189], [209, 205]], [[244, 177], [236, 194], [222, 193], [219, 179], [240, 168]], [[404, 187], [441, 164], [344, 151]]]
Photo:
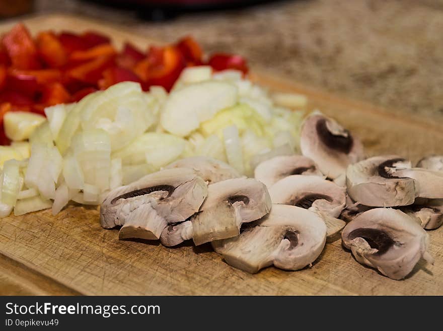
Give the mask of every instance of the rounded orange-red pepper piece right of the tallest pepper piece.
[[40, 58], [48, 67], [59, 68], [66, 63], [66, 51], [52, 32], [39, 33], [36, 44]]

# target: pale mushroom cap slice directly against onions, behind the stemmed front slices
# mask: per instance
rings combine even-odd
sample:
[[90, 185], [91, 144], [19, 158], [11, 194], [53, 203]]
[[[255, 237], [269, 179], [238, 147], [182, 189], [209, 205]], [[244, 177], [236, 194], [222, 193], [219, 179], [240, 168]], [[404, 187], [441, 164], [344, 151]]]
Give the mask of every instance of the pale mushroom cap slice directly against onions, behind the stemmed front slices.
[[203, 178], [208, 184], [241, 177], [239, 172], [229, 164], [206, 156], [184, 158], [171, 163], [165, 169], [171, 168], [193, 169], [196, 175]]

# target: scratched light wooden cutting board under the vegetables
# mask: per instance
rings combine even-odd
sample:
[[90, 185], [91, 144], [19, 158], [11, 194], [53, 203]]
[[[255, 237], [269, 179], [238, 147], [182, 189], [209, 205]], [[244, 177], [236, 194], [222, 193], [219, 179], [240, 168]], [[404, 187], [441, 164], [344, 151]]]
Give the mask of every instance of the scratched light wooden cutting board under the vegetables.
[[[39, 30], [97, 30], [145, 48], [153, 40], [120, 26], [70, 16], [24, 20]], [[15, 22], [0, 26], [8, 30]], [[158, 42], [157, 42], [158, 43]], [[275, 91], [306, 94], [311, 108], [335, 117], [359, 136], [368, 155], [400, 154], [416, 161], [443, 154], [443, 123], [395, 116], [383, 109], [310, 89], [253, 68], [252, 79]], [[158, 242], [120, 241], [104, 230], [97, 208], [69, 206], [0, 220], [0, 294], [86, 295], [425, 295], [443, 294], [443, 228], [429, 231], [433, 266], [420, 260], [402, 281], [361, 266], [337, 240], [312, 268], [267, 268], [250, 275], [231, 268], [210, 245], [166, 248]]]

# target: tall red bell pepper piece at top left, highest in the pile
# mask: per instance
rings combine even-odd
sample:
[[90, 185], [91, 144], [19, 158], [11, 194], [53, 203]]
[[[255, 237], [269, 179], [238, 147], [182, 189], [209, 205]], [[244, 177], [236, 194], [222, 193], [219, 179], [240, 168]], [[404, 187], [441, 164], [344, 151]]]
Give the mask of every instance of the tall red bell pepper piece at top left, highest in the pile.
[[37, 48], [23, 24], [17, 24], [3, 37], [5, 47], [12, 66], [17, 69], [39, 69], [41, 64], [38, 61]]

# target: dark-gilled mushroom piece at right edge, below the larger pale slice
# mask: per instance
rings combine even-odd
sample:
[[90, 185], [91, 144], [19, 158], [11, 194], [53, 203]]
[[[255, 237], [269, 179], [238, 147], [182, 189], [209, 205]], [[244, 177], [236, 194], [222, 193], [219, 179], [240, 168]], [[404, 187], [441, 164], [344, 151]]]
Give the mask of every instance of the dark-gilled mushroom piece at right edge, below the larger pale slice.
[[403, 212], [426, 230], [439, 228], [443, 224], [443, 199], [420, 199], [415, 200], [414, 205], [402, 208]]

